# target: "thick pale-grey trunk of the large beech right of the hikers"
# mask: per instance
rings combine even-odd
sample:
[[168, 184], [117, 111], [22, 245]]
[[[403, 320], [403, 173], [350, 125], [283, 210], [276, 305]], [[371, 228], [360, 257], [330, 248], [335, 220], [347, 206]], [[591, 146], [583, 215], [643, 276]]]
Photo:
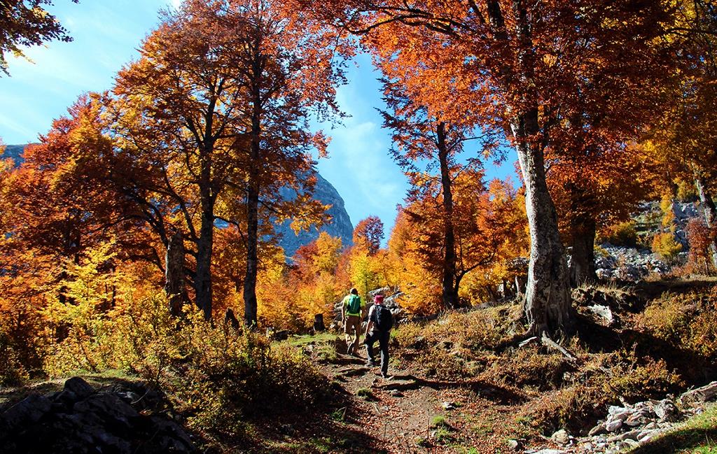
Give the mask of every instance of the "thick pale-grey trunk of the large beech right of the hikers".
[[570, 279], [558, 216], [546, 183], [543, 148], [536, 144], [538, 110], [519, 115], [511, 124], [516, 140], [523, 183], [526, 186], [526, 214], [531, 236], [525, 312], [529, 332], [574, 331]]

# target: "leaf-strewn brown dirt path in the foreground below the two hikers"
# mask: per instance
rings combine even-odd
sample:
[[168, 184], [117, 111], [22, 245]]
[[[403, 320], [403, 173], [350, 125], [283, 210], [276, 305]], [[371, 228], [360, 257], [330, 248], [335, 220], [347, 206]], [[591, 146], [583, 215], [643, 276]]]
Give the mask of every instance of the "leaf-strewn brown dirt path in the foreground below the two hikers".
[[364, 359], [338, 355], [321, 370], [348, 395], [343, 423], [375, 438], [387, 453], [511, 452], [520, 395], [480, 382], [441, 382], [391, 368], [390, 380]]

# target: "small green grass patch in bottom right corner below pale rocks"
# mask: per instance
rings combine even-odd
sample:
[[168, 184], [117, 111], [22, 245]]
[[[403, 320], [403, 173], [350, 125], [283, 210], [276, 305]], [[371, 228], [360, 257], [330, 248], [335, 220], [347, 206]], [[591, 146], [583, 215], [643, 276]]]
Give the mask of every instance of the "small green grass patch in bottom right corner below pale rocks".
[[626, 454], [717, 454], [717, 405]]

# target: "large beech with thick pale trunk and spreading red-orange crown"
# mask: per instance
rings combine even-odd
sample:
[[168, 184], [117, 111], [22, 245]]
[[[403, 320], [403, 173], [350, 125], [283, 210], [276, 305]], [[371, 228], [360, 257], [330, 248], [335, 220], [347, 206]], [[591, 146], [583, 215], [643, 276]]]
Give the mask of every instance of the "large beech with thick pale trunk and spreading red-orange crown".
[[[664, 73], [666, 56], [653, 45], [671, 20], [663, 4], [353, 0], [326, 1], [317, 14], [363, 34], [389, 62], [381, 65], [384, 74], [409, 74], [407, 90], [432, 112], [450, 112], [458, 102], [466, 115], [505, 130], [526, 186], [529, 332], [571, 332], [569, 274], [546, 183], [546, 146], [576, 101], [574, 87], [589, 90], [587, 99], [610, 115], [604, 106]], [[445, 86], [455, 87], [456, 97], [445, 96]]]

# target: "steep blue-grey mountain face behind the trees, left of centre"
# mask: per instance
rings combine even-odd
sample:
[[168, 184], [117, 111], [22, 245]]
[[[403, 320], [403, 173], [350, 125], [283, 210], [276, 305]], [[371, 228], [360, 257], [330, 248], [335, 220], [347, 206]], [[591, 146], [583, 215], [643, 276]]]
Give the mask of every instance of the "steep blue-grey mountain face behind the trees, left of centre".
[[[276, 233], [280, 233], [282, 236], [279, 245], [284, 248], [287, 257], [293, 256], [298, 248], [318, 238], [320, 232], [326, 232], [331, 236], [341, 238], [343, 246], [353, 244], [353, 224], [351, 223], [351, 218], [348, 217], [348, 213], [346, 213], [346, 208], [343, 206], [343, 198], [326, 178], [323, 178], [318, 173], [316, 178], [313, 198], [324, 205], [331, 205], [331, 208], [328, 209], [331, 222], [318, 229], [311, 228], [309, 231], [300, 231], [298, 235], [291, 230], [290, 221], [278, 225]], [[287, 200], [296, 197], [296, 193], [288, 188], [282, 189], [281, 195]]]

